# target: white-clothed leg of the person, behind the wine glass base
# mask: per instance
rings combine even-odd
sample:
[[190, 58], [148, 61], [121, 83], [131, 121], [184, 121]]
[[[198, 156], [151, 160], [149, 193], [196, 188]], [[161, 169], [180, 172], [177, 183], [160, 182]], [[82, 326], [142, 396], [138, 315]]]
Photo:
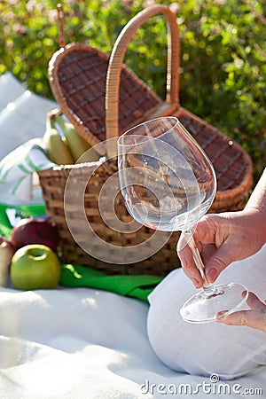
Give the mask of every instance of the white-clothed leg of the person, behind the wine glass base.
[[[243, 284], [263, 301], [265, 275], [266, 245], [257, 254], [232, 263], [218, 282]], [[198, 375], [215, 372], [223, 379], [245, 375], [258, 364], [266, 364], [265, 332], [215, 322], [193, 325], [183, 321], [179, 309], [195, 292], [183, 270], [174, 270], [151, 293], [147, 328], [160, 359], [178, 372]]]

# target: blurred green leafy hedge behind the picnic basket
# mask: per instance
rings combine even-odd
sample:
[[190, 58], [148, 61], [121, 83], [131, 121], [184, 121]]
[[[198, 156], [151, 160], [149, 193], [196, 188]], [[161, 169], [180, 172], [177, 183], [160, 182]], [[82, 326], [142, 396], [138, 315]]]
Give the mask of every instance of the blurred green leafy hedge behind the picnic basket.
[[[0, 74], [10, 70], [36, 94], [52, 98], [47, 66], [59, 48], [53, 0], [0, 3]], [[66, 43], [110, 52], [121, 28], [145, 6], [169, 5], [180, 28], [182, 106], [241, 144], [265, 166], [266, 4], [259, 0], [65, 0]], [[166, 24], [158, 15], [139, 29], [126, 64], [164, 98]]]

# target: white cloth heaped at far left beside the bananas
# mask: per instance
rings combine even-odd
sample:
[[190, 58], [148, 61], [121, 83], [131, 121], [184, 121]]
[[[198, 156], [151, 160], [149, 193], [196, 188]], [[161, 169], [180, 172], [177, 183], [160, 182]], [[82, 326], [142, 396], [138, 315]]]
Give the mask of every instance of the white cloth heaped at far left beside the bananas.
[[56, 106], [27, 90], [11, 73], [0, 76], [0, 202], [43, 202], [40, 188], [33, 187], [33, 170], [52, 166], [39, 150], [46, 114]]

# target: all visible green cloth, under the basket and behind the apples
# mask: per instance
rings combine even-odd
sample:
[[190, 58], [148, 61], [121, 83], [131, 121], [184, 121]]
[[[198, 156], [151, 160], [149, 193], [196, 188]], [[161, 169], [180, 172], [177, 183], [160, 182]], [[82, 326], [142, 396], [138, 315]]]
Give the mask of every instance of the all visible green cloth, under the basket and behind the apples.
[[[22, 205], [20, 207], [0, 204], [0, 234], [7, 238], [12, 231], [12, 225], [6, 215], [7, 208], [15, 209], [21, 217], [45, 215], [45, 207], [42, 204]], [[85, 266], [63, 264], [59, 285], [96, 288], [147, 302], [148, 295], [152, 293], [161, 280], [162, 278], [159, 276], [150, 275], [109, 276]]]

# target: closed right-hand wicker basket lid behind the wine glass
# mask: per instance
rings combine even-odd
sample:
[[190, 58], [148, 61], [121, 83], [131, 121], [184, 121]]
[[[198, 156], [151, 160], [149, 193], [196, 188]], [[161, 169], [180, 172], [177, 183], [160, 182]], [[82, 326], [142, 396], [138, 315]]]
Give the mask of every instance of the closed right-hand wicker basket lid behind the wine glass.
[[250, 157], [238, 143], [183, 107], [179, 107], [175, 116], [198, 141], [214, 165], [217, 192], [210, 212], [242, 209], [253, 184]]

